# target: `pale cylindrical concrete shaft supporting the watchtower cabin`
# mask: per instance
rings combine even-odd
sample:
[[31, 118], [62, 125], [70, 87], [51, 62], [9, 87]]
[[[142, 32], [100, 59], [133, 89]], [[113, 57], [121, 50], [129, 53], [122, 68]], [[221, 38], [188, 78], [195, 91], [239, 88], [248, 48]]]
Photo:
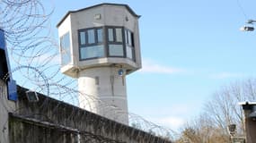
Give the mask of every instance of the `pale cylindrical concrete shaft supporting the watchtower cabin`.
[[119, 67], [97, 67], [79, 71], [80, 107], [111, 120], [128, 124], [125, 73]]

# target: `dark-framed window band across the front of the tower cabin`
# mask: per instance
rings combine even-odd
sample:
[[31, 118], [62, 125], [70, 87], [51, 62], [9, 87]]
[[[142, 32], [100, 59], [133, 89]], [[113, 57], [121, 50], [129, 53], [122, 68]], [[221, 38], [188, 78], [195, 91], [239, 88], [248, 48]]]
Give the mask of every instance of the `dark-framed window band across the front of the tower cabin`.
[[134, 34], [124, 27], [97, 27], [78, 30], [80, 60], [122, 57], [135, 61]]

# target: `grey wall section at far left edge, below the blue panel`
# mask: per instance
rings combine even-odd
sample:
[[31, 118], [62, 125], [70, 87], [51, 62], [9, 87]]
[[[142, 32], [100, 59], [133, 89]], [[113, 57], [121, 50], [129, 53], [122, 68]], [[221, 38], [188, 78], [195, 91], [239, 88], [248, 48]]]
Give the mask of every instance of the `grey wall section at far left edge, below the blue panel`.
[[7, 99], [7, 87], [0, 80], [0, 143], [8, 143], [8, 112], [15, 110], [15, 103]]

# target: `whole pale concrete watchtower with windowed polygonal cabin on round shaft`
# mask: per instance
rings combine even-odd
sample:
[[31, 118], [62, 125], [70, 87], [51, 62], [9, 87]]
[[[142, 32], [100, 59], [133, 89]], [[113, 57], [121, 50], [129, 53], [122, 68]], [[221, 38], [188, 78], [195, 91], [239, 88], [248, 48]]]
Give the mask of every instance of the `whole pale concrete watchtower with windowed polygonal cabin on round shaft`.
[[127, 4], [97, 4], [57, 24], [61, 71], [78, 79], [80, 107], [125, 124], [126, 75], [141, 68], [138, 18]]

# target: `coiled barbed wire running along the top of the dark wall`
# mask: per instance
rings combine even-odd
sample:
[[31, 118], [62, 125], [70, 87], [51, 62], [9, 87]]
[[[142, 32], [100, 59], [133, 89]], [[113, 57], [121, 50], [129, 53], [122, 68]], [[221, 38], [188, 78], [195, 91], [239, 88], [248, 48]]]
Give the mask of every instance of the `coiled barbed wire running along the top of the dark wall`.
[[[128, 114], [129, 124], [134, 128], [160, 137], [175, 138], [177, 133], [171, 129], [148, 122], [137, 114], [126, 113], [93, 95], [80, 93], [76, 89], [77, 81], [60, 73], [58, 42], [52, 37], [49, 28], [52, 13], [54, 8], [47, 11], [40, 0], [1, 0], [0, 28], [4, 29], [10, 61], [14, 67], [12, 73], [8, 73], [3, 80], [7, 80], [13, 74], [22, 87], [31, 88], [75, 106], [79, 105], [78, 95], [82, 95], [86, 104], [93, 102], [89, 105], [92, 111], [95, 110], [94, 103], [97, 103], [102, 106], [102, 113], [110, 114], [112, 112], [109, 111], [114, 110], [116, 111], [114, 114], [120, 114], [119, 116]], [[42, 108], [46, 108], [48, 100], [43, 102]], [[53, 111], [57, 107], [58, 105]], [[14, 110], [8, 106], [5, 108]], [[19, 110], [22, 109], [15, 109], [14, 112], [19, 113]], [[67, 118], [71, 118], [74, 114], [70, 113]], [[29, 115], [25, 114], [25, 116]], [[88, 133], [84, 133], [86, 134]]]

